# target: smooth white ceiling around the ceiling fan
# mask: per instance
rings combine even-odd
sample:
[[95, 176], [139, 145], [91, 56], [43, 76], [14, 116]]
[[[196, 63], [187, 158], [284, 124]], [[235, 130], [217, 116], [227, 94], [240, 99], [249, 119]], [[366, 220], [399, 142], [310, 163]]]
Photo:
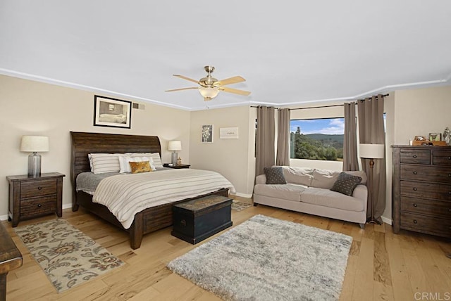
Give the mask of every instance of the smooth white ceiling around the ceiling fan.
[[[204, 102], [173, 77], [241, 75]], [[0, 0], [0, 73], [185, 110], [451, 84], [451, 1]]]

